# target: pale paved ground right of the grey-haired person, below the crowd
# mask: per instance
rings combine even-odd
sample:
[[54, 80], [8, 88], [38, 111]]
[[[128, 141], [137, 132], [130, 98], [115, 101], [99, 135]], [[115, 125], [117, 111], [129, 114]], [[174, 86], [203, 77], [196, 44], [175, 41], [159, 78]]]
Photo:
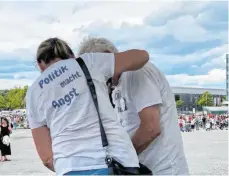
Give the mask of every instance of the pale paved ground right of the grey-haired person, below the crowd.
[[228, 175], [228, 131], [183, 134], [192, 175]]

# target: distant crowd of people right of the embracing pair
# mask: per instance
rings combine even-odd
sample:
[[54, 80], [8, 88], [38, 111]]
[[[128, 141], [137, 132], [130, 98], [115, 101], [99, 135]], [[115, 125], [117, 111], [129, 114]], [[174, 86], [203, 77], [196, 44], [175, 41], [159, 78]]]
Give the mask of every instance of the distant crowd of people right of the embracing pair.
[[180, 115], [178, 123], [182, 132], [198, 130], [223, 130], [228, 129], [228, 114], [221, 115]]

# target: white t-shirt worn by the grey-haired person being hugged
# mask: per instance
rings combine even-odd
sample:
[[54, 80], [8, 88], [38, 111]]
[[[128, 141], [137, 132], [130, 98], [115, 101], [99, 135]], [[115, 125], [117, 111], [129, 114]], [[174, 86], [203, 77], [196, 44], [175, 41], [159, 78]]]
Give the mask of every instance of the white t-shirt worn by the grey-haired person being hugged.
[[[140, 124], [138, 113], [159, 105], [161, 134], [139, 154], [139, 160], [155, 175], [188, 174], [174, 94], [165, 76], [148, 62], [138, 71], [124, 73], [112, 98], [118, 120], [131, 137]], [[121, 100], [125, 100], [125, 106], [120, 106]]]

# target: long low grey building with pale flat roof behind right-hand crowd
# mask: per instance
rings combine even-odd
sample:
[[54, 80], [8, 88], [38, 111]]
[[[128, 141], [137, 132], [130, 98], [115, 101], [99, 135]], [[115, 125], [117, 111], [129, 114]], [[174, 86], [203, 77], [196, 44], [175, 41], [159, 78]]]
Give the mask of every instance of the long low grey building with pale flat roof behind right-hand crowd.
[[191, 87], [172, 87], [175, 100], [182, 100], [184, 104], [179, 108], [179, 111], [202, 110], [196, 101], [200, 96], [208, 91], [213, 96], [214, 106], [221, 105], [223, 96], [226, 95], [225, 89], [209, 89], [209, 88], [191, 88]]

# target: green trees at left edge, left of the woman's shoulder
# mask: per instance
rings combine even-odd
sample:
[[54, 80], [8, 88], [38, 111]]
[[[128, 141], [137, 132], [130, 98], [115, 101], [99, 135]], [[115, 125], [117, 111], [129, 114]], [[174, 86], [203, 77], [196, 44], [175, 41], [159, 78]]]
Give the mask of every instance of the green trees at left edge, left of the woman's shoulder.
[[25, 96], [28, 86], [4, 90], [0, 93], [0, 109], [22, 109], [26, 107]]

